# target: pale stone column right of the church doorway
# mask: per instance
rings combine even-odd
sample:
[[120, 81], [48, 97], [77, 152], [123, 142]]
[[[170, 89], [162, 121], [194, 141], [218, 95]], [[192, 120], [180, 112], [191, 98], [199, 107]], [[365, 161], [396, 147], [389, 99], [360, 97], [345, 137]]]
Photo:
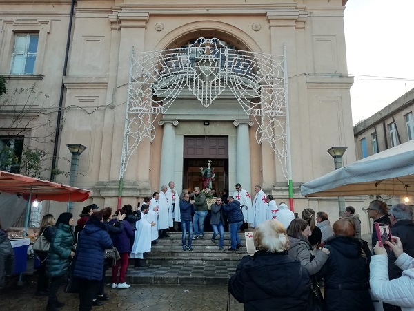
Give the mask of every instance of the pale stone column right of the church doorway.
[[[236, 182], [241, 184], [243, 189], [249, 193], [252, 191], [250, 178], [250, 135], [248, 126], [253, 126], [253, 121], [235, 120], [233, 122], [237, 126], [236, 139]], [[229, 185], [230, 189], [234, 185]]]

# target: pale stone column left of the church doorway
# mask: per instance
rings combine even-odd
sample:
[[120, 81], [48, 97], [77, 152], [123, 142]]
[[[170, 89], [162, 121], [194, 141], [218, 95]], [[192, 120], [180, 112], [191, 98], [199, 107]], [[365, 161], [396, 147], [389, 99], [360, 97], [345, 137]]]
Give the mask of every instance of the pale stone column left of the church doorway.
[[162, 134], [161, 147], [161, 168], [159, 170], [159, 187], [168, 185], [168, 182], [174, 180], [175, 165], [175, 126], [178, 125], [177, 120], [161, 119], [159, 125], [164, 125]]

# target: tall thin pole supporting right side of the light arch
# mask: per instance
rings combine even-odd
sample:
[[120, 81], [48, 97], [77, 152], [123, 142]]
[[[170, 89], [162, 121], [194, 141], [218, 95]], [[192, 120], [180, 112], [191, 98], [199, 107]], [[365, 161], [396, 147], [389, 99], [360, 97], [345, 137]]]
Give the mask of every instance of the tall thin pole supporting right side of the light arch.
[[290, 118], [289, 118], [289, 91], [288, 91], [288, 57], [286, 53], [286, 44], [283, 44], [283, 70], [284, 70], [284, 80], [285, 80], [285, 101], [286, 101], [286, 148], [288, 153], [287, 158], [287, 168], [288, 168], [288, 187], [289, 187], [289, 208], [290, 211], [294, 211], [293, 209], [293, 180], [292, 180], [292, 153], [291, 153], [291, 146], [290, 146]]

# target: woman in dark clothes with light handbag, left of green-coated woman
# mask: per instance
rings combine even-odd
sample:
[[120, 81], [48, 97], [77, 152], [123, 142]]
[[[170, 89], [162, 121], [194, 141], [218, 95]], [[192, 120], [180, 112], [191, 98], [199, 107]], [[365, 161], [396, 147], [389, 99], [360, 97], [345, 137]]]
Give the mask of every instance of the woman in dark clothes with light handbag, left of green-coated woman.
[[[52, 214], [43, 216], [37, 238], [44, 236], [49, 243], [52, 243], [55, 232], [55, 217]], [[35, 295], [46, 296], [49, 290], [49, 278], [46, 276], [46, 258], [48, 257], [48, 252], [35, 252], [35, 254], [40, 261], [40, 267], [37, 269], [37, 289]]]

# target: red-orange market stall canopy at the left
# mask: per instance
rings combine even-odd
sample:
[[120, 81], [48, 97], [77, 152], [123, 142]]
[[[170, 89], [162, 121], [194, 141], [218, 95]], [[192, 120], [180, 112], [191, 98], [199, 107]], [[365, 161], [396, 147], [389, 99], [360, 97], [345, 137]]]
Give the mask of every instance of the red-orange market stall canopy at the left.
[[90, 196], [90, 191], [66, 185], [57, 184], [19, 174], [0, 171], [0, 191], [21, 194], [28, 198], [32, 193], [32, 200], [51, 200], [58, 202], [83, 202]]

